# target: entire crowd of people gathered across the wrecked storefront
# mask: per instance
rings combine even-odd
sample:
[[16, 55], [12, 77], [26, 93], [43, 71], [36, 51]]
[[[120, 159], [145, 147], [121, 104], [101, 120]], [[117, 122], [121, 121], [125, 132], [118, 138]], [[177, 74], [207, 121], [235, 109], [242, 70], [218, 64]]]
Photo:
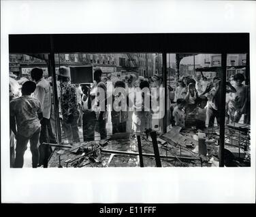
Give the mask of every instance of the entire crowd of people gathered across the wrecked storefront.
[[[27, 144], [30, 143], [32, 166], [47, 167], [52, 152], [47, 143], [57, 143], [57, 127], [53, 106], [52, 79], [43, 77], [42, 68], [33, 68], [31, 80], [10, 77], [10, 146], [11, 167], [22, 167]], [[69, 144], [107, 138], [107, 123], [111, 123], [112, 134], [147, 132], [152, 125], [153, 110], [163, 92], [159, 75], [148, 79], [134, 74], [103, 77], [100, 68], [93, 73], [91, 84], [71, 83], [70, 68], [61, 66], [57, 71], [57, 96], [61, 126]], [[221, 110], [220, 79], [208, 81], [203, 73], [195, 78], [183, 77], [174, 92], [170, 108], [172, 125], [195, 126], [199, 129], [219, 124]], [[249, 102], [249, 87], [244, 85], [242, 74], [234, 75], [234, 84], [226, 83], [226, 116], [229, 121], [238, 122], [246, 114]], [[150, 90], [157, 87], [159, 92]], [[145, 91], [146, 90], [146, 91]], [[138, 94], [139, 93], [139, 94]], [[139, 97], [141, 96], [141, 97]], [[146, 100], [150, 99], [150, 100]], [[155, 108], [155, 107], [154, 107]], [[162, 111], [163, 112], [163, 111]], [[160, 117], [160, 116], [159, 116]], [[79, 127], [82, 127], [80, 138]], [[15, 141], [16, 149], [14, 151]]]

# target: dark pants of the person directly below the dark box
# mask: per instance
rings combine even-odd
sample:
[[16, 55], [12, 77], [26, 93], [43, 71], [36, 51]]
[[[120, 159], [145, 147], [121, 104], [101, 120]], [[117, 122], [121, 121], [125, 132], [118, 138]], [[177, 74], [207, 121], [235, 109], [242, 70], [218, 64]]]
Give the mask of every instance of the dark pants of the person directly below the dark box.
[[94, 111], [84, 111], [82, 116], [82, 132], [84, 142], [94, 140], [95, 125], [97, 123], [96, 114]]

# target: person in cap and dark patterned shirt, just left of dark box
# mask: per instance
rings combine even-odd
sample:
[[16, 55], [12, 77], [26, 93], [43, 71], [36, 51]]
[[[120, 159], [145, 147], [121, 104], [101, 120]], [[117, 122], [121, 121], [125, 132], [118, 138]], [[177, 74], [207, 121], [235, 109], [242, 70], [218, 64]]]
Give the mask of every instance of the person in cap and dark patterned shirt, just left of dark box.
[[61, 87], [61, 109], [63, 128], [69, 143], [80, 142], [78, 134], [78, 118], [80, 115], [76, 86], [70, 82], [70, 69], [61, 66], [57, 71]]

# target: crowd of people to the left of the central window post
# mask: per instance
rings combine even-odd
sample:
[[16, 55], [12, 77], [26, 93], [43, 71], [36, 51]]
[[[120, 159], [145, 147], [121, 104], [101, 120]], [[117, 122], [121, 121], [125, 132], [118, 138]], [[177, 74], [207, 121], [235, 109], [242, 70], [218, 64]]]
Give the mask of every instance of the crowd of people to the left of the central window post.
[[[61, 66], [57, 71], [61, 127], [69, 144], [81, 142], [79, 127], [82, 127], [84, 141], [95, 140], [95, 132], [99, 133], [101, 139], [106, 138], [108, 119], [112, 123], [112, 134], [143, 132], [150, 128], [151, 111], [144, 111], [145, 96], [143, 95], [142, 99], [135, 96], [135, 107], [129, 100], [131, 96], [127, 96], [126, 93], [122, 95], [115, 90], [128, 90], [133, 87], [133, 92], [129, 94], [134, 95], [144, 87], [157, 87], [157, 75], [150, 83], [135, 75], [102, 77], [99, 68], [93, 75], [92, 84], [73, 84], [69, 67]], [[99, 97], [99, 90], [103, 90], [103, 98]], [[122, 105], [121, 101], [118, 101], [122, 97], [127, 99], [127, 109], [113, 109]], [[111, 103], [108, 102], [110, 98]], [[28, 143], [32, 154], [32, 167], [47, 167], [52, 149], [46, 144], [57, 143], [53, 104], [52, 78], [44, 78], [42, 68], [33, 68], [29, 79], [17, 79], [10, 73], [11, 167], [23, 166]]]

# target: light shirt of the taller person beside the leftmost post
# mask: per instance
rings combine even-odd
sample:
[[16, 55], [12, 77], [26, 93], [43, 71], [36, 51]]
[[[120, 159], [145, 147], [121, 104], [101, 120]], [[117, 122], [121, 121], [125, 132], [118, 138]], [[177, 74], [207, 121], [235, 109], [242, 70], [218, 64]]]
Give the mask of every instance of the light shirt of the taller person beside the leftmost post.
[[39, 100], [42, 106], [43, 117], [50, 118], [50, 109], [52, 106], [52, 98], [50, 94], [50, 83], [46, 79], [42, 78], [37, 81], [37, 87], [32, 96]]

